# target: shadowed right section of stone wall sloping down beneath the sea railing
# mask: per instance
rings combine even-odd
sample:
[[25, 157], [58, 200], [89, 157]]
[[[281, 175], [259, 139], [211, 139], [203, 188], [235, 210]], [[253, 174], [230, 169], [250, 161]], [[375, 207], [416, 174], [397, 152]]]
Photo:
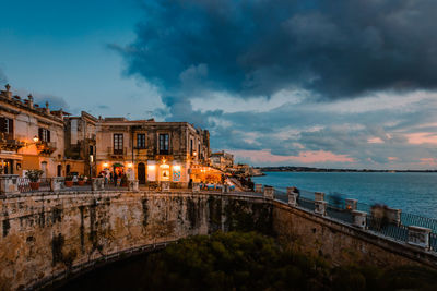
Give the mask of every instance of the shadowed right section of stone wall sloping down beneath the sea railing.
[[406, 243], [274, 202], [273, 229], [286, 244], [333, 265], [394, 267], [420, 265], [437, 268], [437, 256]]

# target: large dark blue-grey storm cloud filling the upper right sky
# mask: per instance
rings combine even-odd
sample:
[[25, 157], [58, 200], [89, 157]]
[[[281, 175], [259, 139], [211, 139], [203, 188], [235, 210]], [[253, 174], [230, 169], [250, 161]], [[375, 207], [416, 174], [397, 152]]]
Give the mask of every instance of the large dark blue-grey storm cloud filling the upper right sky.
[[[435, 0], [146, 1], [137, 40], [116, 47], [165, 89], [330, 98], [436, 88]], [[208, 98], [208, 97], [205, 97]]]

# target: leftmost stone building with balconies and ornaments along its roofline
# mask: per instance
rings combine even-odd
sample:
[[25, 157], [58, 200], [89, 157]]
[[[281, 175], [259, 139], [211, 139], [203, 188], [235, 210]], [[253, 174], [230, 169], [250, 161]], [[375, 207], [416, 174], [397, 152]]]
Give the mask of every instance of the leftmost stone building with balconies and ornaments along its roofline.
[[40, 169], [43, 177], [62, 175], [63, 111], [52, 111], [12, 96], [10, 86], [0, 92], [0, 167], [3, 173], [23, 174]]

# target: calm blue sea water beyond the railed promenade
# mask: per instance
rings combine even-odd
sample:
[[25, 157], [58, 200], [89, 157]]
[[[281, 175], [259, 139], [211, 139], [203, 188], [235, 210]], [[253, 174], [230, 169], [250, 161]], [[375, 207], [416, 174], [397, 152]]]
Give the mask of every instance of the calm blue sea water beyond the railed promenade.
[[382, 203], [426, 217], [437, 218], [437, 173], [265, 172], [253, 182], [275, 187], [296, 186], [334, 192], [367, 204]]

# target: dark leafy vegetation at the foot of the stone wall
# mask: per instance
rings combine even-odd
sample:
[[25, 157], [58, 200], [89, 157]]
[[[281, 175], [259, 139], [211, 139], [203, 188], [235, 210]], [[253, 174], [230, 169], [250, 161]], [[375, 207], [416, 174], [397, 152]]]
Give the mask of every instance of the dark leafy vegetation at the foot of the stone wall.
[[[102, 270], [99, 270], [102, 271]], [[332, 268], [256, 232], [180, 240], [160, 253], [88, 275], [63, 290], [437, 290], [437, 271], [418, 267]]]

